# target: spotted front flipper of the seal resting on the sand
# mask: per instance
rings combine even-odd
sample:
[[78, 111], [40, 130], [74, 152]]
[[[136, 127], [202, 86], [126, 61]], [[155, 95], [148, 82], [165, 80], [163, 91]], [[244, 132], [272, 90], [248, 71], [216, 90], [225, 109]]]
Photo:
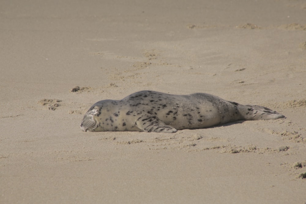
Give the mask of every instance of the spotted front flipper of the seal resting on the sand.
[[177, 132], [175, 128], [166, 125], [164, 122], [160, 121], [156, 116], [143, 115], [137, 118], [137, 121], [135, 123], [137, 128], [143, 130], [144, 132], [163, 132], [163, 133]]

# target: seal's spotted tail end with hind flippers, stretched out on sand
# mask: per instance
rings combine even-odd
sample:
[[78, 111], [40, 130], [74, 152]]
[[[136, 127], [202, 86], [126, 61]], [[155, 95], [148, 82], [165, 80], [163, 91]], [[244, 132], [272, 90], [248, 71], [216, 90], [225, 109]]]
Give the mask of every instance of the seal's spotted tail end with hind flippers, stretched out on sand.
[[[240, 105], [240, 104], [239, 104]], [[257, 105], [240, 105], [238, 106], [238, 110], [241, 114], [241, 116], [246, 121], [251, 120], [272, 120], [272, 119], [278, 119], [278, 118], [284, 118], [285, 116], [273, 111], [271, 109], [268, 109], [263, 106], [257, 106]]]

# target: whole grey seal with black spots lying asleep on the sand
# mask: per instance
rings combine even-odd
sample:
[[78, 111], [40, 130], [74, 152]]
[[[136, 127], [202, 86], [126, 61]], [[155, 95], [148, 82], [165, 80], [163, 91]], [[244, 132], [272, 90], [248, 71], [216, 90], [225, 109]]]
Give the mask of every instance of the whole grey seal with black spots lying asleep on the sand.
[[144, 131], [174, 133], [240, 120], [271, 120], [282, 114], [263, 106], [241, 105], [214, 95], [172, 95], [139, 91], [122, 100], [102, 100], [87, 111], [83, 131]]

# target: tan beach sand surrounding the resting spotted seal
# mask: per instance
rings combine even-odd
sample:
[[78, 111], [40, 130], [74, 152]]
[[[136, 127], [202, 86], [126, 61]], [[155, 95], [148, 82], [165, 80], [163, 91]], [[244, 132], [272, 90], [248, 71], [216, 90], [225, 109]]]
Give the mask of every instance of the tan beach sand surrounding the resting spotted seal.
[[[306, 202], [304, 0], [1, 1], [0, 30], [0, 203]], [[140, 90], [286, 118], [80, 130]]]

